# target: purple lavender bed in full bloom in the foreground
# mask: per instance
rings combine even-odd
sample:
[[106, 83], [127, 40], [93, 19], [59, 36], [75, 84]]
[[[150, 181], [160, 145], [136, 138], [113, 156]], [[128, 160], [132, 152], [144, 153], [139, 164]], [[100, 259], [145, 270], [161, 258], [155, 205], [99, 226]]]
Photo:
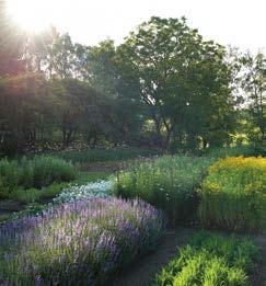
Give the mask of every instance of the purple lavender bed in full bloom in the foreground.
[[142, 201], [90, 198], [0, 227], [0, 281], [8, 285], [96, 285], [151, 251], [161, 211]]

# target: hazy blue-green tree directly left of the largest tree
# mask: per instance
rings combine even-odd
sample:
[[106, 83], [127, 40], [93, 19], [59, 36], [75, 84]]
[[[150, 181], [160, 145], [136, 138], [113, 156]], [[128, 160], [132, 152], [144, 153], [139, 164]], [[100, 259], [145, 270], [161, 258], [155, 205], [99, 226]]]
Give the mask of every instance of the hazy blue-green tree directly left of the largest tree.
[[105, 41], [89, 47], [83, 70], [83, 79], [103, 96], [101, 108], [105, 111], [105, 136], [114, 142], [136, 144], [142, 124], [138, 82], [131, 80], [114, 42]]

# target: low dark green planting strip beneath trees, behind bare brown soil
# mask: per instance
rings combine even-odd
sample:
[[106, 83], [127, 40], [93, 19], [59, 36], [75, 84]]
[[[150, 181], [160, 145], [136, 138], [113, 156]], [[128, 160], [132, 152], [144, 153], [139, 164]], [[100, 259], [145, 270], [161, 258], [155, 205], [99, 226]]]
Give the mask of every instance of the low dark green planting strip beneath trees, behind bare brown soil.
[[102, 161], [118, 161], [138, 157], [149, 157], [159, 153], [160, 151], [158, 149], [117, 148], [63, 151], [58, 153], [57, 156], [65, 160], [71, 160], [72, 162], [91, 163]]

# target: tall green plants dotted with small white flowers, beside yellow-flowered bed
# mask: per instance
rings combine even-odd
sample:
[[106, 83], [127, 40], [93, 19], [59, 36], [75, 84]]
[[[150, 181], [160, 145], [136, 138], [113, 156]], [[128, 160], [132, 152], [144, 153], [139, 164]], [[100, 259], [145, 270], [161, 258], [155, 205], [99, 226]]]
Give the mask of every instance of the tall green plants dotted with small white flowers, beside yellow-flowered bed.
[[136, 164], [117, 175], [116, 194], [140, 197], [163, 209], [172, 225], [190, 217], [197, 207], [199, 187], [212, 159], [165, 156]]

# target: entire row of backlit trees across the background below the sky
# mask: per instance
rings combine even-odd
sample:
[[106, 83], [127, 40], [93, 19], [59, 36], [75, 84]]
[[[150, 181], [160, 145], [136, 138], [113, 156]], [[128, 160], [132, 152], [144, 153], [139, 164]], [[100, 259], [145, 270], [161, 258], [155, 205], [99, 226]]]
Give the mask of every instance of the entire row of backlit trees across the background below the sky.
[[176, 151], [265, 139], [266, 57], [151, 18], [123, 44], [22, 33], [0, 7], [0, 148], [82, 141]]

